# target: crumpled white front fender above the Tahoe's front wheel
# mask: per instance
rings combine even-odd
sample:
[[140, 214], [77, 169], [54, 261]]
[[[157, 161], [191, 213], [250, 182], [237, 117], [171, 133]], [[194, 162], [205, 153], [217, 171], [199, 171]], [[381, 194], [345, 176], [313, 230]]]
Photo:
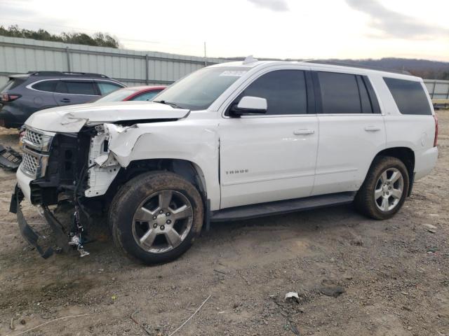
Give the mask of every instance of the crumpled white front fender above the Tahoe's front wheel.
[[[125, 126], [104, 123], [91, 143], [87, 197], [104, 195], [120, 169], [142, 160], [184, 160], [196, 167], [207, 194], [220, 206], [217, 167], [220, 146], [215, 118], [192, 118]], [[116, 169], [116, 170], [114, 170]], [[207, 189], [206, 189], [207, 188]]]

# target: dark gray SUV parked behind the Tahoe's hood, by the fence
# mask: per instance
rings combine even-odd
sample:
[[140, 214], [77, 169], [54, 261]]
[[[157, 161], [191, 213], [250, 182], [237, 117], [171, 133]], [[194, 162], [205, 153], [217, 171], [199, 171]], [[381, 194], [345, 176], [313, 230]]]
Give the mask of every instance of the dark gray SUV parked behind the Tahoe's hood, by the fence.
[[21, 127], [36, 111], [86, 103], [125, 86], [98, 73], [36, 71], [13, 75], [0, 88], [0, 126]]

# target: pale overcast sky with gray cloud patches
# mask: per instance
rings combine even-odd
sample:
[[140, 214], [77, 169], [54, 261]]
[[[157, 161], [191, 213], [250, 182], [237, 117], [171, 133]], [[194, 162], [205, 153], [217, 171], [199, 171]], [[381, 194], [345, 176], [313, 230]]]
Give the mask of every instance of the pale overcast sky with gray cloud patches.
[[449, 61], [449, 0], [0, 0], [0, 25], [102, 31], [128, 49]]

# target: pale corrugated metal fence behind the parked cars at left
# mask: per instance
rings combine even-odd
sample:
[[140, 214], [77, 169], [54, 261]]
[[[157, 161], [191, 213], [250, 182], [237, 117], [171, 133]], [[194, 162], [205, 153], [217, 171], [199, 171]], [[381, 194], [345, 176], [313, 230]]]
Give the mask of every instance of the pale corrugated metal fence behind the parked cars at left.
[[0, 36], [0, 86], [12, 74], [38, 70], [102, 73], [126, 85], [170, 84], [221, 62], [227, 60]]

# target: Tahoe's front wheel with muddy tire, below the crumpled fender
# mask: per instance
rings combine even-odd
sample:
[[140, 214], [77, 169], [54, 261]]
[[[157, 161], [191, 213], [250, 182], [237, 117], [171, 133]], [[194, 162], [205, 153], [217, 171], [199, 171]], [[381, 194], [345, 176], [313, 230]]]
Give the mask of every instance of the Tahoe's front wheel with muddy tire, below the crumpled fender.
[[177, 174], [149, 172], [119, 190], [109, 209], [114, 243], [147, 265], [175, 260], [185, 253], [203, 225], [198, 190]]

